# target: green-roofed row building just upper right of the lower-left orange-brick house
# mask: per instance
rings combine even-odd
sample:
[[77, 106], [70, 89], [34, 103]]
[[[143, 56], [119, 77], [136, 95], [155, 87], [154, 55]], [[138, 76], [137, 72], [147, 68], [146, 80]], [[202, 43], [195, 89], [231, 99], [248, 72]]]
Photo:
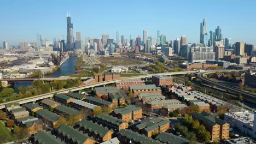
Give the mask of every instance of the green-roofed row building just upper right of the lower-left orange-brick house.
[[60, 116], [56, 113], [50, 112], [48, 110], [40, 109], [36, 111], [36, 117], [42, 119], [43, 123], [49, 125], [49, 127], [54, 127]]

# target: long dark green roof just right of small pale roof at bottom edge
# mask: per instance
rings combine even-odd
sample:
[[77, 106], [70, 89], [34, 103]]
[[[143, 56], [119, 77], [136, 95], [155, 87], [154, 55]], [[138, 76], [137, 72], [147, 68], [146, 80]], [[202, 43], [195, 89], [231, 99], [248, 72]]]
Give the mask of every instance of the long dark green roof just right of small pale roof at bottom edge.
[[127, 139], [133, 141], [132, 143], [142, 143], [142, 144], [161, 143], [158, 140], [152, 139], [152, 137], [147, 137], [145, 135], [139, 134], [138, 132], [132, 131], [130, 129], [121, 129], [117, 134], [127, 137]]

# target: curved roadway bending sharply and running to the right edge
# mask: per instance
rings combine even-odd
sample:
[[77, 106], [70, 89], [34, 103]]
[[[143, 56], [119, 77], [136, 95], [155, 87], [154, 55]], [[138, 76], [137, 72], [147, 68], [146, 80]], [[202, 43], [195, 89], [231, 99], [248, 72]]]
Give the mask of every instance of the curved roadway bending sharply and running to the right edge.
[[[216, 71], [215, 71], [216, 72]], [[218, 71], [219, 72], [219, 71]], [[204, 82], [206, 83], [209, 83], [211, 85], [214, 85], [214, 86], [218, 86], [222, 89], [226, 89], [227, 91], [230, 91], [230, 92], [234, 92], [234, 93], [240, 93], [241, 95], [243, 95], [243, 98], [247, 101], [250, 101], [251, 103], [255, 103], [256, 104], [256, 95], [255, 94], [252, 94], [252, 93], [248, 93], [248, 92], [244, 92], [244, 91], [241, 91], [240, 89], [237, 89], [237, 88], [234, 88], [234, 87], [229, 87], [229, 86], [226, 86], [226, 85], [222, 85], [221, 83], [217, 83], [217, 82], [214, 82], [214, 81], [211, 81], [211, 80], [208, 80], [204, 77], [204, 75], [206, 74], [210, 74], [210, 73], [214, 73], [214, 71], [211, 71], [211, 72], [206, 72], [206, 73], [200, 73], [198, 74], [197, 76]]]

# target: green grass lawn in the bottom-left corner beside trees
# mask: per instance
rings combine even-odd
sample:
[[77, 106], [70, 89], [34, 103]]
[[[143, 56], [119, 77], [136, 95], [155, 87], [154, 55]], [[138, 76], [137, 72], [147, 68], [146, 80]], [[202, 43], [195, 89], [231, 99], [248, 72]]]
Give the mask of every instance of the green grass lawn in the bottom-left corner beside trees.
[[11, 132], [3, 125], [3, 123], [0, 122], [0, 143], [5, 143], [13, 140], [13, 134], [11, 134]]

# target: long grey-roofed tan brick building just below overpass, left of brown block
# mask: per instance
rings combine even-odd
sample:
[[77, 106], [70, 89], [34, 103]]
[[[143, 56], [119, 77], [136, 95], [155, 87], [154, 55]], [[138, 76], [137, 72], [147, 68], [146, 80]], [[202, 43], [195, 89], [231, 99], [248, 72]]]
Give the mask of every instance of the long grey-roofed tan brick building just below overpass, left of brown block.
[[125, 79], [120, 82], [115, 82], [117, 89], [128, 90], [131, 85], [145, 85], [145, 81], [141, 79]]

